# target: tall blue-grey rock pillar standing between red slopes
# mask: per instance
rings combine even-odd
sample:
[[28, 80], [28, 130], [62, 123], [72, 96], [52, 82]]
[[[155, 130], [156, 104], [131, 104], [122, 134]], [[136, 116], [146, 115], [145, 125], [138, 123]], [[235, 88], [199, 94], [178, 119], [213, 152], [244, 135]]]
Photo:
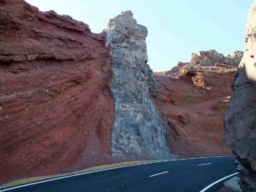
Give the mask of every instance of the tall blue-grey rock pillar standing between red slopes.
[[148, 67], [145, 26], [137, 24], [131, 11], [108, 23], [107, 46], [111, 45], [115, 102], [112, 133], [113, 155], [160, 157], [168, 154], [166, 124], [150, 98], [157, 95]]

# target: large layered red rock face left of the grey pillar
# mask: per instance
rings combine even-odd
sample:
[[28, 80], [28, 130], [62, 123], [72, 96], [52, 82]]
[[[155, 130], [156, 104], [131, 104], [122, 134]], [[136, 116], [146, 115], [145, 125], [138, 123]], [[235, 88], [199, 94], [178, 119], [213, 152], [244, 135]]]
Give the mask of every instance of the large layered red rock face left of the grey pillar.
[[112, 162], [105, 38], [69, 16], [0, 1], [0, 183]]

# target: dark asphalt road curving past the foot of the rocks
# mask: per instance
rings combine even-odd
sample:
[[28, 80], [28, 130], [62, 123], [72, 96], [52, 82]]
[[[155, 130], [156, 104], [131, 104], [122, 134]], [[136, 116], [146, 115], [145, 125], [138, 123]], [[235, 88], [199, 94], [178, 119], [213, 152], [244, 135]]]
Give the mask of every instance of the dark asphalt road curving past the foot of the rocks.
[[[9, 192], [200, 192], [236, 172], [234, 157], [174, 160], [36, 183]], [[207, 189], [214, 191], [222, 182]], [[1, 191], [1, 190], [0, 190]]]

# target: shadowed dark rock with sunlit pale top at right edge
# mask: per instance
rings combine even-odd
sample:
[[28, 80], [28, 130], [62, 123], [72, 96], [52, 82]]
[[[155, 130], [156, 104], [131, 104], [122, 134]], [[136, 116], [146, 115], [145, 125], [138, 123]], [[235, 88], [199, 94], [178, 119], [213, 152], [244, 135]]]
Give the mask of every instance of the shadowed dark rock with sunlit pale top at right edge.
[[246, 51], [224, 119], [225, 142], [239, 161], [241, 189], [256, 191], [256, 1], [247, 19]]

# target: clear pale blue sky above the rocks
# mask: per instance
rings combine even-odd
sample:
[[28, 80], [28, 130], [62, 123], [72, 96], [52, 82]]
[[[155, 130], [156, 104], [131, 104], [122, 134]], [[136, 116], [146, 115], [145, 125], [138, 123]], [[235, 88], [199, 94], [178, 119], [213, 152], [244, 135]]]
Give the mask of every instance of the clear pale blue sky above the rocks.
[[131, 10], [148, 27], [148, 64], [167, 71], [191, 53], [216, 49], [224, 55], [244, 49], [246, 20], [253, 0], [26, 0], [42, 11], [70, 15], [102, 32], [108, 20]]

